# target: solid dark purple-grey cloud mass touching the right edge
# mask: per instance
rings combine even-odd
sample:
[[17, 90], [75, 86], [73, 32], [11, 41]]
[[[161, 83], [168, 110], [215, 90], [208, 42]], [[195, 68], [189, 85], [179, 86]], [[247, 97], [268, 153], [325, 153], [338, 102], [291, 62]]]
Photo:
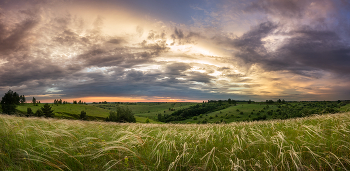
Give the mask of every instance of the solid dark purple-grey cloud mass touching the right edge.
[[272, 70], [324, 70], [350, 73], [350, 47], [333, 31], [298, 30], [267, 62]]

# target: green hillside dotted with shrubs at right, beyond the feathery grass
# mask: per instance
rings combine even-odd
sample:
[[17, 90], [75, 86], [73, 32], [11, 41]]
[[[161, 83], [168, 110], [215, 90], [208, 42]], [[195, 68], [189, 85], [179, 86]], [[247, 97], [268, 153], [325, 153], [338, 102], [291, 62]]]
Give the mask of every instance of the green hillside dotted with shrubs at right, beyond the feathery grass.
[[350, 111], [350, 104], [338, 102], [293, 102], [286, 104], [266, 104], [246, 102], [231, 105], [226, 109], [199, 115], [195, 118], [177, 121], [176, 123], [242, 122], [254, 120], [288, 119], [305, 117], [313, 114], [337, 113]]

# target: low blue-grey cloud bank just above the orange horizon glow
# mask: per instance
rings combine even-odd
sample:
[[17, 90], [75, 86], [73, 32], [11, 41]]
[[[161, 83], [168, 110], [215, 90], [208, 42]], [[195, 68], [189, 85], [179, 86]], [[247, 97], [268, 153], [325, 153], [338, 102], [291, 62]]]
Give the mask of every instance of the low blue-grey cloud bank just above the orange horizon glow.
[[[174, 67], [178, 66], [180, 71], [176, 70]], [[169, 73], [167, 71], [154, 71], [154, 72], [143, 72], [136, 70], [115, 70], [110, 76], [105, 76], [99, 73], [84, 73], [76, 75], [77, 78], [89, 77], [93, 78], [94, 81], [85, 83], [83, 86], [73, 84], [71, 86], [63, 87], [63, 91], [67, 94], [67, 97], [77, 97], [77, 96], [129, 96], [129, 97], [139, 97], [139, 96], [159, 96], [159, 97], [172, 97], [172, 98], [183, 98], [187, 97], [189, 99], [217, 99], [221, 95], [211, 94], [203, 92], [202, 90], [192, 89], [191, 87], [195, 85], [185, 80], [178, 80], [175, 75], [183, 75], [181, 72], [186, 71], [186, 64], [175, 63], [170, 64], [168, 68], [173, 70]], [[113, 70], [113, 69], [111, 69]], [[169, 70], [168, 70], [169, 71]], [[202, 76], [202, 81], [207, 81], [204, 74], [191, 73], [191, 76], [184, 75], [185, 78], [193, 78], [192, 76]], [[168, 78], [164, 78], [168, 77]], [[199, 81], [198, 79], [195, 81]], [[208, 90], [216, 90], [215, 87], [208, 88]]]

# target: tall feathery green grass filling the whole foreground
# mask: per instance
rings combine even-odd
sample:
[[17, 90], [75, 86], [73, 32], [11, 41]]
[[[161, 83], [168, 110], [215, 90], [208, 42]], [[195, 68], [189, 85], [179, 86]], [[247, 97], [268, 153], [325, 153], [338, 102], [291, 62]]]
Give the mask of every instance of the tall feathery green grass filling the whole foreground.
[[4, 170], [346, 170], [350, 113], [231, 124], [0, 115]]

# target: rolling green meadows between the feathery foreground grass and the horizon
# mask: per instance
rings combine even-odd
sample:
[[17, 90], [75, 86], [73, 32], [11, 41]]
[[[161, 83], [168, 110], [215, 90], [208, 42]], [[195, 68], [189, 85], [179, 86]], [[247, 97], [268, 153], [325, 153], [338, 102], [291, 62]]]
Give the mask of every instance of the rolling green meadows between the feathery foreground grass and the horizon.
[[[170, 116], [175, 111], [188, 109], [191, 106], [202, 105], [202, 103], [174, 102], [174, 103], [108, 103], [108, 104], [50, 104], [55, 113], [55, 118], [79, 119], [81, 111], [87, 112], [88, 120], [104, 121], [110, 111], [116, 111], [117, 106], [128, 107], [134, 113], [136, 122], [163, 123], [159, 121], [158, 115]], [[207, 104], [207, 103], [206, 103]], [[227, 103], [224, 103], [227, 104]], [[31, 103], [21, 104], [17, 110], [25, 114], [30, 107], [34, 112], [44, 104], [34, 106]], [[325, 110], [325, 109], [330, 110]], [[248, 104], [239, 102], [237, 105], [230, 105], [227, 108], [213, 112], [205, 112], [181, 121], [171, 121], [172, 123], [231, 123], [254, 120], [288, 119], [295, 117], [305, 117], [311, 114], [324, 114], [350, 111], [350, 104], [338, 102], [290, 102], [285, 104], [265, 102]], [[292, 112], [290, 116], [283, 113]], [[294, 112], [294, 113], [293, 113]], [[295, 112], [297, 114], [295, 114]], [[300, 114], [301, 113], [301, 114]]]

